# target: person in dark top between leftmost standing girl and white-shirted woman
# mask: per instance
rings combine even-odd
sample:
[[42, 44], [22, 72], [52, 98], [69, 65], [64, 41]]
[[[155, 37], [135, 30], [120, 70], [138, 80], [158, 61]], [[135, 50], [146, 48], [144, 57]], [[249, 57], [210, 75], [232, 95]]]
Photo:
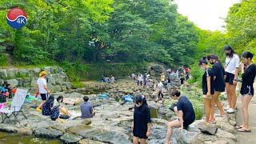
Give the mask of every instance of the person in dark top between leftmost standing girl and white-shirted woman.
[[225, 78], [226, 72], [224, 67], [222, 66], [222, 62], [218, 60], [218, 56], [214, 54], [207, 55], [208, 62], [213, 65], [214, 71], [214, 95], [210, 102], [210, 121], [214, 122], [214, 106], [215, 104], [218, 106], [219, 115], [225, 116], [225, 112], [222, 108], [222, 103], [219, 102], [218, 97], [219, 95], [225, 91]]

